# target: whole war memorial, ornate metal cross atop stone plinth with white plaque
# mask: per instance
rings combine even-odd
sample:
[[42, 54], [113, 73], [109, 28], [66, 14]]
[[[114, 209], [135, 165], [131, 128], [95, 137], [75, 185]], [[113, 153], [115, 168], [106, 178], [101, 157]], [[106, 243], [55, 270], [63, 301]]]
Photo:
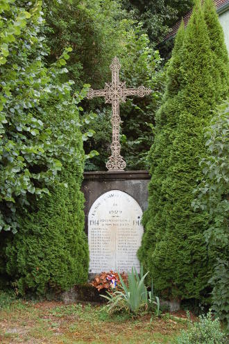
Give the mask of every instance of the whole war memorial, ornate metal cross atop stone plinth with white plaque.
[[126, 162], [121, 157], [119, 143], [119, 104], [126, 96], [143, 97], [151, 89], [139, 86], [127, 88], [119, 80], [118, 58], [112, 60], [112, 82], [104, 89], [90, 89], [87, 98], [103, 96], [112, 105], [111, 156], [108, 172], [84, 173], [85, 230], [90, 250], [90, 277], [103, 271], [128, 272], [134, 266], [139, 271], [137, 250], [141, 245], [143, 227], [142, 212], [147, 206], [147, 171], [124, 171]]

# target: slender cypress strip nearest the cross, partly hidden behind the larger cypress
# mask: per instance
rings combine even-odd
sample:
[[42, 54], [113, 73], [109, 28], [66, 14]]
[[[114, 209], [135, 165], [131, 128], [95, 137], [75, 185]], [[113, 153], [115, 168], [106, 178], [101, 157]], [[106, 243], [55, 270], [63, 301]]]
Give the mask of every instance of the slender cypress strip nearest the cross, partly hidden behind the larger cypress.
[[180, 90], [181, 49], [185, 35], [184, 23], [180, 25], [176, 35], [171, 60], [167, 68], [167, 87], [164, 92], [163, 104], [155, 117], [155, 139], [149, 153], [151, 163], [151, 182], [149, 183], [149, 209], [143, 216], [146, 228], [142, 246], [138, 255], [144, 268], [151, 270], [151, 254], [155, 248], [155, 234], [164, 227], [164, 216], [157, 216], [164, 207], [163, 182], [167, 175], [169, 153], [172, 144], [172, 132], [176, 126], [173, 113], [178, 107], [177, 95]]

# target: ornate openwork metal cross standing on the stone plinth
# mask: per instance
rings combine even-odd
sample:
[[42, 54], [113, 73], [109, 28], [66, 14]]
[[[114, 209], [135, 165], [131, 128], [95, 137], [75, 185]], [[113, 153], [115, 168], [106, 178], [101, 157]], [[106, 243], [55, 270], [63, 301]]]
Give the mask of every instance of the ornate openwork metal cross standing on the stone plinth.
[[112, 144], [110, 145], [112, 155], [105, 164], [109, 171], [123, 171], [126, 167], [126, 162], [120, 155], [121, 144], [119, 142], [119, 126], [122, 123], [119, 116], [119, 104], [126, 102], [126, 96], [140, 96], [144, 97], [146, 94], [151, 94], [152, 90], [143, 85], [138, 88], [126, 88], [126, 83], [119, 81], [119, 69], [121, 65], [118, 58], [112, 60], [110, 69], [112, 71], [112, 82], [105, 83], [104, 89], [90, 88], [87, 93], [87, 98], [92, 99], [97, 96], [103, 96], [105, 103], [112, 104]]

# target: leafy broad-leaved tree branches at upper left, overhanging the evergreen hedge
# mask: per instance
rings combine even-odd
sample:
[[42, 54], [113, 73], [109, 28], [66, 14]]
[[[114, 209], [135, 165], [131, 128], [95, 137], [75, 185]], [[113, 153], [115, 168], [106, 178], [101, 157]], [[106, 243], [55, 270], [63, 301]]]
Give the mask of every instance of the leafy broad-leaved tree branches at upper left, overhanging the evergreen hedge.
[[[60, 82], [71, 47], [51, 67], [44, 65], [48, 51], [42, 36], [42, 2], [30, 3], [26, 10], [20, 4], [1, 1], [0, 17], [0, 231], [13, 233], [19, 227], [19, 208], [26, 209], [31, 195], [49, 193], [62, 168], [60, 160], [79, 157], [65, 135], [44, 123], [49, 103], [55, 103], [58, 115], [67, 107], [73, 111], [83, 98], [70, 96], [72, 81]], [[79, 120], [72, 124], [80, 126]]]

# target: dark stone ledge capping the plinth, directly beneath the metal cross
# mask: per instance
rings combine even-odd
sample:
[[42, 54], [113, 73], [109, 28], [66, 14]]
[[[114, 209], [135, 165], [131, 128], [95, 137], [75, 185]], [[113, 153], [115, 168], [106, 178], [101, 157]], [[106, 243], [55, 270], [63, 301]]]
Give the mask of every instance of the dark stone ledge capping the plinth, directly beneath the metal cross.
[[148, 171], [91, 171], [83, 173], [84, 180], [150, 180]]

